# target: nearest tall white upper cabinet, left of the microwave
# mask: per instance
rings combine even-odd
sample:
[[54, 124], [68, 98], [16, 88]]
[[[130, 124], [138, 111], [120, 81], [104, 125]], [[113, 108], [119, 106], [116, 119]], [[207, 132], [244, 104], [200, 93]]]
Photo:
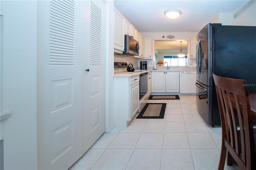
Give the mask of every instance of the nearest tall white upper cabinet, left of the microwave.
[[125, 18], [114, 8], [115, 30], [114, 30], [114, 53], [123, 53], [124, 51], [124, 21]]

